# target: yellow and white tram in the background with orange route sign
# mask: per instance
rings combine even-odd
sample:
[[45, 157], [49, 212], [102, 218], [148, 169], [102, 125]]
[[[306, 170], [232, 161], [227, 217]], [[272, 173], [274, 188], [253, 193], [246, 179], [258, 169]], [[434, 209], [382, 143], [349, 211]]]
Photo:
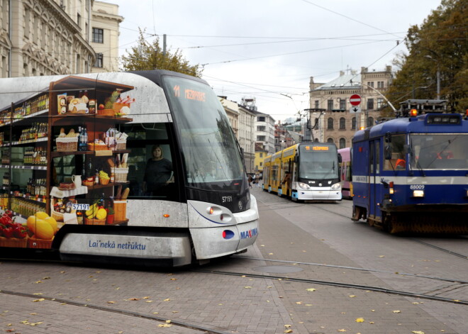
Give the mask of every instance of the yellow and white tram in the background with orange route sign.
[[263, 189], [292, 201], [341, 201], [333, 143], [300, 143], [265, 158]]

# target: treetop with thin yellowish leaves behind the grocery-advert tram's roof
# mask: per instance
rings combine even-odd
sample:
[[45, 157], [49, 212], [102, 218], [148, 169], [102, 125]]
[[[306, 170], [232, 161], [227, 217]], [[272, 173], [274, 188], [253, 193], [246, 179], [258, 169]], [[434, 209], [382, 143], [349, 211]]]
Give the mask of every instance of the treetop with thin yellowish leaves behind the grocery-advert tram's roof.
[[143, 71], [148, 69], [168, 69], [169, 71], [180, 72], [201, 77], [203, 68], [200, 65], [190, 65], [188, 60], [182, 56], [180, 50], [175, 52], [163, 50], [160, 47], [160, 39], [155, 38], [152, 43], [148, 43], [143, 34], [145, 30], [139, 29], [138, 45], [132, 47], [127, 56], [121, 57], [123, 71]]

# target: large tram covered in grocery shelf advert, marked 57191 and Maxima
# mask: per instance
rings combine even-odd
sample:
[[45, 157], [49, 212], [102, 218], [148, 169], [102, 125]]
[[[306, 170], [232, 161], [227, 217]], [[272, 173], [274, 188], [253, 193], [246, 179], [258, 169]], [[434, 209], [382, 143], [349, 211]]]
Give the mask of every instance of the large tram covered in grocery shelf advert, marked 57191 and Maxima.
[[0, 249], [182, 266], [244, 252], [258, 210], [216, 94], [165, 70], [0, 79]]

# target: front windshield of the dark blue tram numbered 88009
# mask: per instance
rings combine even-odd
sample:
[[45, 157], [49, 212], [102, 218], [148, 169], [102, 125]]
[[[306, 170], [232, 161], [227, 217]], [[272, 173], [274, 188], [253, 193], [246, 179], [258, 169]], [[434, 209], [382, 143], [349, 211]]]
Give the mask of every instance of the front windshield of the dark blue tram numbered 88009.
[[411, 168], [467, 169], [467, 134], [411, 134], [409, 143]]

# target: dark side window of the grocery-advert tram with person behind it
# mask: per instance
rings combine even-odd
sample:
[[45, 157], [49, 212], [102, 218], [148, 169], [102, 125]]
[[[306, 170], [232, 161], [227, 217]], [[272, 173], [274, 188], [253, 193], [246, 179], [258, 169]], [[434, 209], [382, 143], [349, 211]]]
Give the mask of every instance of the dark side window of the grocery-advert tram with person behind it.
[[175, 200], [177, 175], [167, 124], [128, 124], [121, 128], [128, 135], [129, 199]]

